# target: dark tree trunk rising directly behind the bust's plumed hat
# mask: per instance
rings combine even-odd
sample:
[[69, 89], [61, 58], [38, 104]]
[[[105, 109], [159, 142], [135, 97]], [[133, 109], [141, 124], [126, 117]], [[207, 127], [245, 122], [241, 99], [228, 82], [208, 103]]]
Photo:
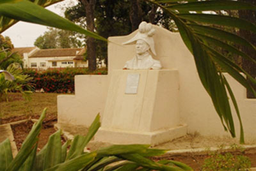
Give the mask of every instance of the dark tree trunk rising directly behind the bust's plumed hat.
[[142, 11], [139, 0], [131, 0], [130, 20], [132, 24], [132, 31], [138, 29], [142, 21]]

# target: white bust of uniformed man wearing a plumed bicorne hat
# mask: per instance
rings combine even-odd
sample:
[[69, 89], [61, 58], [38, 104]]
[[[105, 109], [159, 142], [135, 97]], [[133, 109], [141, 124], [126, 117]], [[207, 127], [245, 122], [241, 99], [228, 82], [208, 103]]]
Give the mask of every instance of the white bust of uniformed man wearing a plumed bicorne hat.
[[152, 58], [150, 52], [156, 56], [154, 35], [155, 29], [152, 24], [141, 22], [138, 33], [125, 41], [123, 45], [136, 44], [136, 55], [130, 61], [127, 61], [124, 70], [159, 70], [162, 68], [160, 61]]

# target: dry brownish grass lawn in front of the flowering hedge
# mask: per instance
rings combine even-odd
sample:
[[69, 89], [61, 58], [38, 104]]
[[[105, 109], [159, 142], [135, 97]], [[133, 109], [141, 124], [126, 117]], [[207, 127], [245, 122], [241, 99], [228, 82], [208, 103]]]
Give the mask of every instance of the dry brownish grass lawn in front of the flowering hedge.
[[12, 117], [18, 115], [38, 115], [45, 107], [47, 114], [57, 115], [57, 93], [33, 93], [31, 100], [26, 101], [20, 93], [10, 93], [9, 102], [0, 102], [0, 117]]

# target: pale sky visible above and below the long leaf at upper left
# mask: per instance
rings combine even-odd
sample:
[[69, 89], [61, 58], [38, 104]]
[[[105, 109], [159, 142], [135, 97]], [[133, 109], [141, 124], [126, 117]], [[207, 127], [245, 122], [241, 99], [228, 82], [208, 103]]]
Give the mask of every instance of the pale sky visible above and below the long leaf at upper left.
[[[65, 0], [61, 3], [56, 3], [47, 7], [47, 10], [51, 10], [54, 13], [63, 16], [64, 11], [61, 10], [61, 7], [67, 6], [70, 2], [73, 4], [77, 3], [77, 1], [74, 0]], [[17, 24], [4, 31], [2, 35], [9, 36], [14, 47], [34, 47], [36, 38], [44, 34], [45, 31], [47, 31], [46, 26], [30, 24], [28, 22], [17, 22]]]

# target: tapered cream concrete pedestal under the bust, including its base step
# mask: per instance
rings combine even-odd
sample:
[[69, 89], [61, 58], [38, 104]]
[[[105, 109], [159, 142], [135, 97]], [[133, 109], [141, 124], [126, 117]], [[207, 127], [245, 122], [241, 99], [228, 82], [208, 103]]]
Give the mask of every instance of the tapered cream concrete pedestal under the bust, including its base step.
[[[127, 77], [139, 75], [137, 93]], [[113, 70], [97, 141], [156, 145], [186, 135], [179, 121], [177, 70]]]

